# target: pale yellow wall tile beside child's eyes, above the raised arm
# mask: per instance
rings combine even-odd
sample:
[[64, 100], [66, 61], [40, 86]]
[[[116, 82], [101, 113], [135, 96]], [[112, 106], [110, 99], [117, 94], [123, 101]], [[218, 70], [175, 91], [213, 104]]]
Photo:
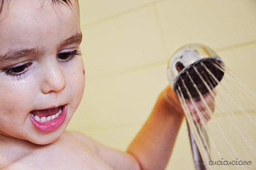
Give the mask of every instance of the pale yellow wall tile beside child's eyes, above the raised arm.
[[166, 58], [153, 7], [83, 27], [87, 76], [108, 74]]

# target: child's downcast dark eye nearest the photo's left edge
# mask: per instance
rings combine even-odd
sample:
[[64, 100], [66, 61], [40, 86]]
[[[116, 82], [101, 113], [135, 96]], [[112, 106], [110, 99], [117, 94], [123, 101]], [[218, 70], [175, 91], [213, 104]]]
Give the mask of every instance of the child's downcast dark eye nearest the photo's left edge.
[[27, 72], [28, 67], [30, 67], [31, 65], [32, 65], [32, 62], [28, 62], [28, 63], [22, 64], [20, 66], [4, 68], [3, 72], [9, 76], [21, 77], [22, 74]]

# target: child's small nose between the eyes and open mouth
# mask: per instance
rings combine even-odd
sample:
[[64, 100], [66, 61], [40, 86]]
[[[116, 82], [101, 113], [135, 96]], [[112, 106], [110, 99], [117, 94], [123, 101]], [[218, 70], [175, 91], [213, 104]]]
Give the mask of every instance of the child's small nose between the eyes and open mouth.
[[66, 79], [62, 68], [58, 63], [51, 63], [45, 68], [41, 91], [47, 93], [59, 93], [66, 87]]

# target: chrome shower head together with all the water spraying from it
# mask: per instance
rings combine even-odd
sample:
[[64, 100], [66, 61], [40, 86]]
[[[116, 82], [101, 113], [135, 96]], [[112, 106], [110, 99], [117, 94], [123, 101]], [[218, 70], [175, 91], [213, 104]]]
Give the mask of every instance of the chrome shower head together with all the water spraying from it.
[[[256, 93], [202, 44], [178, 49], [167, 71], [186, 116], [195, 169], [255, 169]], [[216, 159], [252, 166], [213, 166]]]

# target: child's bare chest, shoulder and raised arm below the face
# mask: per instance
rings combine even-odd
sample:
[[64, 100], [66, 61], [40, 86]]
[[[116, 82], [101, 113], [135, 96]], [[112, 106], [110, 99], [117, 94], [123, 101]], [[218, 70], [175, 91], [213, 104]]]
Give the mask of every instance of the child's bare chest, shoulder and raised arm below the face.
[[[183, 118], [183, 114], [178, 111], [181, 108], [175, 106], [179, 103], [175, 103], [178, 101], [173, 95], [169, 86], [160, 94], [151, 116], [126, 153], [102, 146], [77, 132], [66, 131], [55, 142], [46, 145], [1, 136], [3, 163], [0, 168], [164, 169]], [[170, 111], [171, 108], [176, 109]]]

